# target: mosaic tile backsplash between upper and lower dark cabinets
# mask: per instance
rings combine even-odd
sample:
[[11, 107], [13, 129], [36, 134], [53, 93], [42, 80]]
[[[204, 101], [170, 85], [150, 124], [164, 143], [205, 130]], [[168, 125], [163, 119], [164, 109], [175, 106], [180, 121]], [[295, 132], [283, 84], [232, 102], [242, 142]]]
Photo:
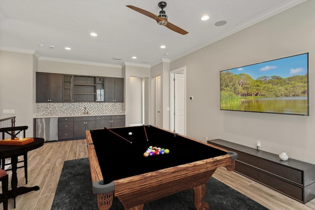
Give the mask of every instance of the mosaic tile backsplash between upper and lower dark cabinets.
[[36, 106], [34, 117], [125, 114], [123, 103], [36, 103]]

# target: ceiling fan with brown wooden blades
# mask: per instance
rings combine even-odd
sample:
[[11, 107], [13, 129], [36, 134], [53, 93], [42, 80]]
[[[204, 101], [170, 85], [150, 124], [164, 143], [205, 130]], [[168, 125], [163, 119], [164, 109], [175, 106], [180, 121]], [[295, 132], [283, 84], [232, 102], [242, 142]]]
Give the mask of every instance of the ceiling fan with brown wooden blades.
[[188, 33], [186, 30], [183, 30], [183, 29], [179, 28], [178, 26], [175, 26], [174, 24], [171, 24], [170, 22], [168, 22], [167, 15], [166, 15], [165, 11], [163, 10], [166, 7], [165, 1], [158, 2], [158, 7], [162, 9], [161, 11], [159, 11], [159, 15], [155, 15], [151, 12], [148, 12], [148, 11], [141, 9], [139, 7], [136, 7], [136, 6], [132, 6], [132, 5], [126, 5], [126, 6], [129, 7], [130, 9], [133, 9], [137, 12], [140, 12], [143, 15], [146, 15], [150, 18], [153, 18], [154, 20], [156, 20], [158, 22], [159, 25], [165, 26], [170, 30], [174, 30], [175, 32], [178, 32], [178, 33], [183, 34], [183, 35]]

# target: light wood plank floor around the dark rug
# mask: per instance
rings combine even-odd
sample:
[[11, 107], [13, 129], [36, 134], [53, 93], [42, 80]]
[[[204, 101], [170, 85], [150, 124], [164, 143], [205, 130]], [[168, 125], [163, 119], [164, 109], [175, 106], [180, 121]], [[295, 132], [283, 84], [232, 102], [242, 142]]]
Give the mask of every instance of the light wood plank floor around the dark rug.
[[[43, 147], [30, 151], [27, 186], [38, 185], [40, 190], [18, 196], [16, 210], [50, 210], [63, 162], [85, 157], [88, 157], [85, 139], [45, 143]], [[223, 167], [217, 169], [213, 177], [270, 210], [315, 210], [315, 199], [303, 205]], [[26, 186], [23, 169], [18, 169], [18, 184]], [[211, 204], [209, 205], [211, 208]], [[8, 209], [13, 210], [13, 199], [9, 199]], [[2, 204], [0, 210], [3, 210]]]

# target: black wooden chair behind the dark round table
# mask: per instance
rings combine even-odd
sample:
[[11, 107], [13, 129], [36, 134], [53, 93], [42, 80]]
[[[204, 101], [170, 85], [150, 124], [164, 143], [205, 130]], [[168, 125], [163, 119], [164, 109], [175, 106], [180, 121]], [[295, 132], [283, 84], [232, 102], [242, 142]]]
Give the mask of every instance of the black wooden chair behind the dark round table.
[[[23, 138], [25, 138], [25, 131], [29, 128], [29, 126], [17, 126], [17, 127], [3, 127], [0, 128], [1, 134], [1, 140], [4, 139], [4, 134], [8, 134], [11, 136], [11, 139], [19, 138], [21, 135], [21, 132], [23, 133]], [[21, 155], [22, 156], [22, 155]], [[23, 154], [23, 160], [18, 161], [18, 163], [23, 163], [22, 166], [18, 166], [17, 168], [24, 168], [24, 174], [25, 174], [25, 183], [28, 183], [28, 153], [25, 152]], [[4, 167], [6, 165], [11, 165], [10, 163], [5, 163], [5, 159], [1, 159], [1, 169], [4, 170]], [[12, 169], [5, 169], [5, 171], [10, 171]]]

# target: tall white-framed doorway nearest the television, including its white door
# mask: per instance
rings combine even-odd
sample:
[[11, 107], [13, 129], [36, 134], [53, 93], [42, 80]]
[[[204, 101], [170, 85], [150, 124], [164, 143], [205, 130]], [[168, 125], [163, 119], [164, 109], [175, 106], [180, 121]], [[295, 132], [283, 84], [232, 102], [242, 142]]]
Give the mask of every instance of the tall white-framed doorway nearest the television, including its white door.
[[186, 135], [186, 66], [170, 71], [171, 130]]

